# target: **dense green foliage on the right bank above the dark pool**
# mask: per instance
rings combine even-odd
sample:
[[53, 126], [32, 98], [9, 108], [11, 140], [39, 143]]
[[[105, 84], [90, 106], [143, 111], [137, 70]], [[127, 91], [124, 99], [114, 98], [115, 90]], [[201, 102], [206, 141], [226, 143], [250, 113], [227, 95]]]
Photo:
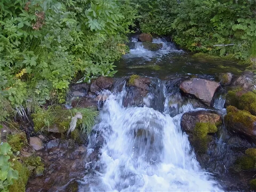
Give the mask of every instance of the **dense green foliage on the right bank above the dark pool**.
[[183, 49], [216, 58], [247, 60], [256, 55], [255, 1], [133, 1], [140, 5], [142, 32], [171, 34]]

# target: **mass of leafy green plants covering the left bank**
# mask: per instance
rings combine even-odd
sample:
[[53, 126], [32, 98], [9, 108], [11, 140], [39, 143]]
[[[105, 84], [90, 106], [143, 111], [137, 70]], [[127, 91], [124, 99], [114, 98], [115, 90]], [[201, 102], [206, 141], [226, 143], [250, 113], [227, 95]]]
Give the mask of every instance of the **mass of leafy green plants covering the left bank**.
[[[112, 76], [137, 13], [130, 1], [112, 0], [2, 0], [0, 7], [0, 95], [15, 106], [31, 98], [63, 103], [70, 82]], [[3, 103], [0, 112], [11, 113]]]

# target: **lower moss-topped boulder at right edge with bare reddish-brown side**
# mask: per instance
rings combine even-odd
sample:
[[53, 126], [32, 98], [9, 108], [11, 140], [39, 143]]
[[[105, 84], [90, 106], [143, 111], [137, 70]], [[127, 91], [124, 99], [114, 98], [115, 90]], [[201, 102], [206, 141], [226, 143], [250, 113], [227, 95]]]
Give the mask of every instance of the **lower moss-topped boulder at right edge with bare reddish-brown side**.
[[241, 133], [255, 139], [256, 136], [256, 116], [249, 111], [238, 110], [234, 106], [227, 107], [227, 127], [230, 131]]

